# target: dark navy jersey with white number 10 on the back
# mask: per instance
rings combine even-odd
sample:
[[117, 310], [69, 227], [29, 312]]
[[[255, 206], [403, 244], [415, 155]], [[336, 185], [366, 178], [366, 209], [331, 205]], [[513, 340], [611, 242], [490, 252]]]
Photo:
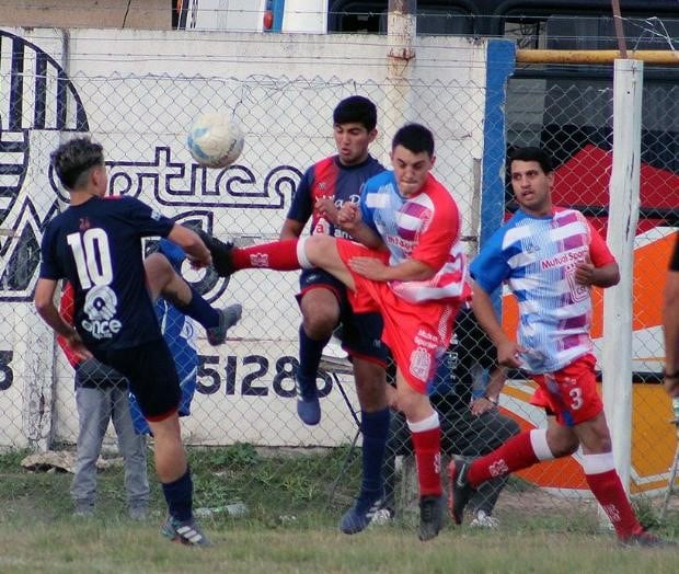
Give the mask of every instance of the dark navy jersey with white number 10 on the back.
[[134, 197], [93, 197], [47, 223], [39, 276], [71, 283], [73, 325], [93, 353], [162, 338], [146, 287], [141, 238], [166, 237], [173, 225]]

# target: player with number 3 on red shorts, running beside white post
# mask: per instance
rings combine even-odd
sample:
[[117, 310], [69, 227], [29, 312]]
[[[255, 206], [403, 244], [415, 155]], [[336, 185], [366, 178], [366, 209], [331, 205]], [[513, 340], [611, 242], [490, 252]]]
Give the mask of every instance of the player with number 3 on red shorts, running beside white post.
[[[484, 481], [551, 460], [577, 439], [587, 484], [620, 543], [665, 546], [641, 526], [630, 505], [597, 392], [590, 288], [615, 285], [618, 264], [579, 211], [552, 205], [554, 172], [543, 150], [515, 150], [509, 171], [519, 210], [471, 264], [473, 309], [499, 363], [531, 374], [559, 424], [521, 433], [471, 463], [453, 461], [448, 469], [452, 518], [462, 523], [464, 506]], [[518, 343], [503, 332], [491, 299], [505, 280], [519, 302]]]

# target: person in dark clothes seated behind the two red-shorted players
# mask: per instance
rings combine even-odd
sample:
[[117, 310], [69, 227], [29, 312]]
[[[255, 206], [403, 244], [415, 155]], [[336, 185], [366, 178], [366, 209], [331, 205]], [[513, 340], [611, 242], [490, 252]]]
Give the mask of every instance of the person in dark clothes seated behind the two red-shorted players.
[[[458, 313], [454, 334], [448, 353], [444, 355], [436, 372], [429, 400], [439, 415], [442, 451], [461, 457], [479, 457], [497, 448], [519, 433], [513, 418], [497, 409], [499, 392], [505, 382], [505, 369], [495, 360], [493, 343], [475, 321], [471, 308]], [[488, 375], [481, 394], [474, 392], [475, 375]], [[384, 457], [385, 497], [381, 516], [395, 516], [395, 457], [412, 455], [413, 446], [407, 433], [405, 417], [392, 415]], [[472, 496], [470, 506], [474, 516], [471, 525], [495, 528], [498, 520], [493, 509], [507, 477], [484, 482]]]

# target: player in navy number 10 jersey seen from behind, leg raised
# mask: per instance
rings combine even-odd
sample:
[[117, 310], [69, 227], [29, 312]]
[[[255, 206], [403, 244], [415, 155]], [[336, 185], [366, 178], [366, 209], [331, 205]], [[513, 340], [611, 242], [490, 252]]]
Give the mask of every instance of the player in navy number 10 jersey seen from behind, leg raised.
[[[173, 301], [208, 330], [211, 343], [240, 318], [240, 306], [212, 309], [154, 253], [142, 260], [141, 238], [160, 236], [181, 245], [196, 268], [211, 264], [200, 238], [133, 197], [104, 197], [108, 186], [103, 148], [76, 138], [57, 148], [51, 167], [70, 195], [70, 206], [45, 228], [35, 307], [68, 345], [94, 356], [129, 380], [156, 437], [156, 471], [170, 516], [162, 533], [187, 544], [207, 539], [193, 520], [193, 483], [182, 445], [181, 398], [174, 361], [164, 342], [152, 300]], [[59, 279], [74, 289], [73, 325], [58, 312]]]

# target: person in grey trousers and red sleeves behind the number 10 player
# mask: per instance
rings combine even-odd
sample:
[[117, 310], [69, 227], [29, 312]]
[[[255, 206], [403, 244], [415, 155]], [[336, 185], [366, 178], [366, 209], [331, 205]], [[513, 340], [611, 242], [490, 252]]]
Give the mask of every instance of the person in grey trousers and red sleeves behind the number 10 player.
[[[59, 312], [73, 324], [73, 287], [67, 283], [61, 294]], [[125, 467], [125, 491], [130, 518], [141, 520], [149, 506], [149, 479], [147, 473], [146, 439], [135, 432], [128, 402], [127, 379], [114, 368], [94, 357], [83, 358], [73, 353], [66, 338], [57, 343], [76, 369], [76, 406], [78, 407], [78, 444], [76, 473], [71, 482], [71, 498], [76, 516], [92, 516], [96, 502], [96, 461], [108, 427], [113, 426], [118, 438], [118, 449]]]

